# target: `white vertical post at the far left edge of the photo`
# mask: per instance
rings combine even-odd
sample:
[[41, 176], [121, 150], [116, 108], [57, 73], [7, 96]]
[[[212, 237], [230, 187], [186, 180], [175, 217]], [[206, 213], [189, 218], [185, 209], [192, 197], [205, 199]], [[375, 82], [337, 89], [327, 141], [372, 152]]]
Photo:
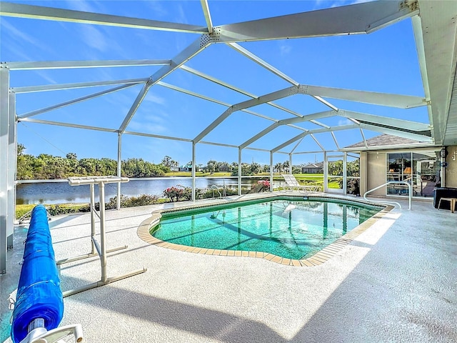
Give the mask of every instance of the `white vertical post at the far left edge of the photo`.
[[6, 273], [8, 237], [9, 70], [0, 64], [0, 274]]

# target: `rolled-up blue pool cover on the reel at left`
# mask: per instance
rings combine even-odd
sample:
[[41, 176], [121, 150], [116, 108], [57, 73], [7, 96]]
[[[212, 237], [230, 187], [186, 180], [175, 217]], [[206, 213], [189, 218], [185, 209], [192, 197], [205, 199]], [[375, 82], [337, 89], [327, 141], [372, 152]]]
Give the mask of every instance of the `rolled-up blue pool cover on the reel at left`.
[[47, 330], [59, 326], [64, 314], [64, 299], [57, 274], [51, 232], [46, 209], [42, 205], [31, 214], [24, 250], [16, 304], [13, 312], [11, 339], [21, 342], [34, 319], [44, 319]]

